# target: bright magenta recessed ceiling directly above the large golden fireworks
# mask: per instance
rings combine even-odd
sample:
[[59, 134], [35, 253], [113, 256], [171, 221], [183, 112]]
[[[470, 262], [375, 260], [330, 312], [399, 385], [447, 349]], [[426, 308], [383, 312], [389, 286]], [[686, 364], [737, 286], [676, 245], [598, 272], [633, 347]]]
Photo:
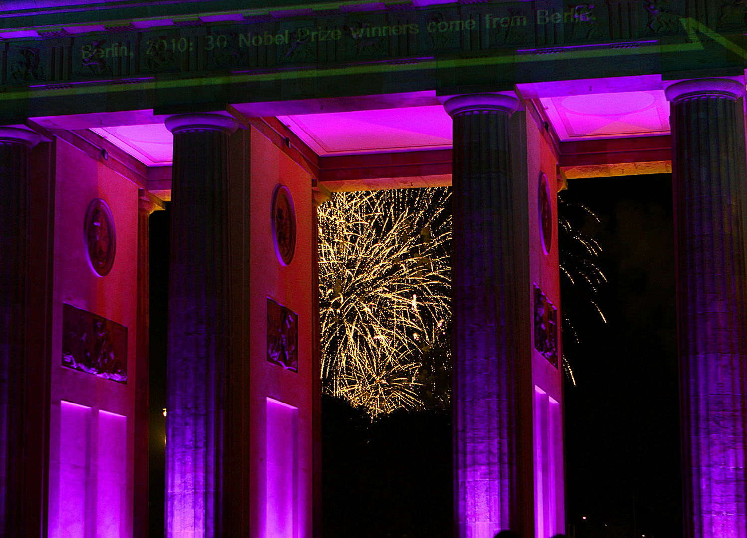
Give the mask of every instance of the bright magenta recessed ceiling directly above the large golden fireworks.
[[278, 116], [317, 155], [449, 149], [451, 117], [441, 105]]

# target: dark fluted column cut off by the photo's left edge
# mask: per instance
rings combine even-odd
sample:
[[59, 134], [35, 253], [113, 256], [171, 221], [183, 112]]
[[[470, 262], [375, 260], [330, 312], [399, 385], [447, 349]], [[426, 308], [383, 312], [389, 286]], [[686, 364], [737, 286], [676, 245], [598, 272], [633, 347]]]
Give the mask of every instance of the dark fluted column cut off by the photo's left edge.
[[31, 148], [37, 133], [0, 127], [0, 536], [25, 536], [25, 418]]

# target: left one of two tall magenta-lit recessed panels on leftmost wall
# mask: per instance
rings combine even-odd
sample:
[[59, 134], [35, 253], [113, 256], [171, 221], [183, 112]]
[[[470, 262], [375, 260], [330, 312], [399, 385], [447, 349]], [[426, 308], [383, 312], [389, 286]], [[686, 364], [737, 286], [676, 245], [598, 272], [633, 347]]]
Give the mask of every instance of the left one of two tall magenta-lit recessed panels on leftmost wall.
[[50, 518], [49, 536], [87, 538], [91, 408], [68, 401], [61, 401], [60, 408], [59, 510]]

